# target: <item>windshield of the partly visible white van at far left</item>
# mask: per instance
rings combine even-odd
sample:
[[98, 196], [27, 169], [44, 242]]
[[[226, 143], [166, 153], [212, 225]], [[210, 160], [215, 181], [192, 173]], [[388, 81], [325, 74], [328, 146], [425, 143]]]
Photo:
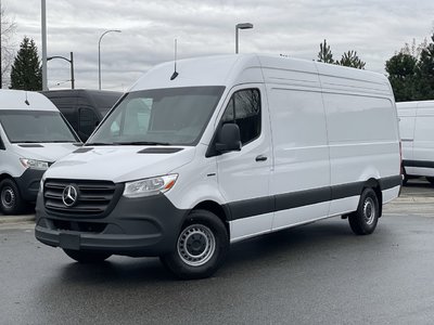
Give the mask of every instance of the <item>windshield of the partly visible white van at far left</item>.
[[59, 112], [0, 110], [0, 123], [11, 143], [79, 141]]

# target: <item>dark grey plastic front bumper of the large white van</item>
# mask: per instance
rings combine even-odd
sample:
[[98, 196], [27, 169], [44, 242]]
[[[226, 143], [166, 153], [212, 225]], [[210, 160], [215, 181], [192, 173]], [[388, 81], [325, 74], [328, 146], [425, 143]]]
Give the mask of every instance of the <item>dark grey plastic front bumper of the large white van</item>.
[[60, 217], [46, 211], [39, 192], [35, 236], [43, 244], [64, 249], [161, 256], [175, 249], [187, 213], [161, 194], [141, 198], [122, 196], [104, 218]]

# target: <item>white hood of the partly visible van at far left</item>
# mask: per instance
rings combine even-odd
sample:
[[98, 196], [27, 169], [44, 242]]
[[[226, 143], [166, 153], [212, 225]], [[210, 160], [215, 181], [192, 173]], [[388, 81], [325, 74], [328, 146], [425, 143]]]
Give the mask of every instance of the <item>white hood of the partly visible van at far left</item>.
[[11, 144], [14, 152], [22, 158], [36, 159], [47, 162], [54, 162], [55, 160], [66, 156], [77, 146], [72, 142], [65, 143], [35, 143], [35, 144]]

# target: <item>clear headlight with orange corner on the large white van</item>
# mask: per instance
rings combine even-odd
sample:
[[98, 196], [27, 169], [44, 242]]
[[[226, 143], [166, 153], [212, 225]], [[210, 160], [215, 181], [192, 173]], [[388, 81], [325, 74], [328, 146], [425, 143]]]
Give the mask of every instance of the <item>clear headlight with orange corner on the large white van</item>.
[[124, 196], [141, 197], [151, 196], [169, 191], [174, 185], [178, 174], [167, 174], [125, 184]]

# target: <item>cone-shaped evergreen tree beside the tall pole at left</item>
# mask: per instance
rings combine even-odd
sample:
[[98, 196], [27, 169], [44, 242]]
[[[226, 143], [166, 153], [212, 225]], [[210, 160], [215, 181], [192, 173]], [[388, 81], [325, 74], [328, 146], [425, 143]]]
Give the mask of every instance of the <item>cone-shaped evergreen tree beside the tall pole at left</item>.
[[42, 90], [42, 67], [38, 48], [33, 39], [24, 37], [11, 70], [11, 89]]

